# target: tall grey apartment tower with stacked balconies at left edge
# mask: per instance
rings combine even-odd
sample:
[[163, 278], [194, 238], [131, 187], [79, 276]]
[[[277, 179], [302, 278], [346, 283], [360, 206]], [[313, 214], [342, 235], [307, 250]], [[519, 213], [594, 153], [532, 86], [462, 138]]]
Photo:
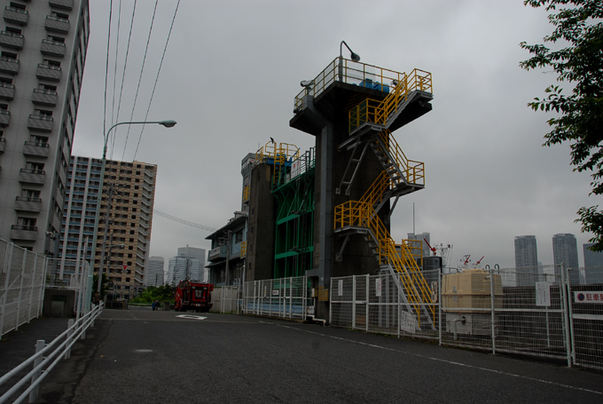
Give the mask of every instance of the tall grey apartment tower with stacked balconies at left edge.
[[0, 238], [53, 256], [90, 36], [88, 0], [0, 4]]

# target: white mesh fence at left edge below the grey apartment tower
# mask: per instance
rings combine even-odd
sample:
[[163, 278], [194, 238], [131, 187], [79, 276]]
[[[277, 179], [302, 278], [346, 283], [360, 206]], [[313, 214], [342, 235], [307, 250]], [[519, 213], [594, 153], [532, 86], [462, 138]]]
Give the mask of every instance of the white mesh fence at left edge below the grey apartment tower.
[[42, 314], [46, 259], [0, 240], [0, 337]]

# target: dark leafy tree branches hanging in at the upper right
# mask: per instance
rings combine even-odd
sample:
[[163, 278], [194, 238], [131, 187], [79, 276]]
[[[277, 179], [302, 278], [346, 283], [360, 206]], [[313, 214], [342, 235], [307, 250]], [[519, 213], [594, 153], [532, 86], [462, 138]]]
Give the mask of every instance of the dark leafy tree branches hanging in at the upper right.
[[[603, 194], [603, 2], [601, 0], [528, 0], [525, 5], [544, 7], [554, 27], [544, 44], [521, 43], [532, 55], [520, 66], [527, 69], [552, 68], [557, 81], [568, 83], [571, 93], [550, 85], [543, 99], [528, 105], [535, 111], [554, 112], [548, 123], [552, 131], [543, 146], [568, 141], [571, 164], [577, 171], [591, 171], [591, 195]], [[591, 250], [603, 251], [603, 211], [599, 205], [578, 210], [583, 232], [594, 234]]]

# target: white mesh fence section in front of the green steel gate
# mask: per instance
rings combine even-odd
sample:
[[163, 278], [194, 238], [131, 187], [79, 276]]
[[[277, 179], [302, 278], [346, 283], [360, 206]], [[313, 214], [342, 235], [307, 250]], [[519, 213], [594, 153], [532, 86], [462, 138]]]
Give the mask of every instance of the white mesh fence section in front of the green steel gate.
[[308, 279], [270, 279], [245, 282], [243, 289], [244, 314], [288, 319], [304, 319], [309, 314]]

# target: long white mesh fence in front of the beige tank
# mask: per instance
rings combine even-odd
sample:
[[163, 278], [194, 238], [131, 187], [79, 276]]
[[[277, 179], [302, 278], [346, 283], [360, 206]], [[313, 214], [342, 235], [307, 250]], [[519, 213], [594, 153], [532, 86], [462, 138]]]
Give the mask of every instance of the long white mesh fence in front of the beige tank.
[[[473, 271], [473, 272], [472, 272]], [[433, 301], [406, 303], [395, 275], [332, 278], [330, 324], [603, 369], [603, 268], [424, 272]]]

